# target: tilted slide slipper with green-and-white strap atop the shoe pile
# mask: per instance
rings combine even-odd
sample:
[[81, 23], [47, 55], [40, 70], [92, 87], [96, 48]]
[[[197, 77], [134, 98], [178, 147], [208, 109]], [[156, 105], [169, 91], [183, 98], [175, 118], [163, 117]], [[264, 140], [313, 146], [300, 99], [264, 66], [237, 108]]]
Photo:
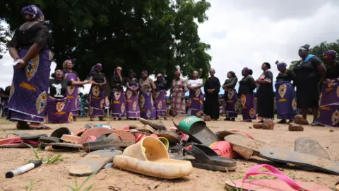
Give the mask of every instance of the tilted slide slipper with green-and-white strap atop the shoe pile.
[[206, 127], [206, 122], [196, 116], [186, 117], [179, 123], [178, 129], [196, 141], [198, 144], [210, 146], [218, 141], [218, 137]]

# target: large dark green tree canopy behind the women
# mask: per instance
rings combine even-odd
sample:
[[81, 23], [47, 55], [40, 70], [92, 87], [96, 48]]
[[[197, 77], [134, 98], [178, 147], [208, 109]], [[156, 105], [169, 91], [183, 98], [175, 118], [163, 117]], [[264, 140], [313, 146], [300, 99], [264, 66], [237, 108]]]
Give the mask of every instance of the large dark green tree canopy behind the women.
[[124, 76], [130, 69], [138, 76], [147, 70], [171, 80], [178, 66], [184, 75], [197, 70], [203, 78], [208, 76], [210, 45], [198, 36], [198, 23], [208, 19], [206, 0], [1, 2], [0, 19], [8, 23], [8, 31], [24, 22], [23, 6], [39, 6], [56, 42], [57, 67], [72, 59], [82, 79], [96, 63], [103, 65], [107, 76], [117, 66], [123, 68]]

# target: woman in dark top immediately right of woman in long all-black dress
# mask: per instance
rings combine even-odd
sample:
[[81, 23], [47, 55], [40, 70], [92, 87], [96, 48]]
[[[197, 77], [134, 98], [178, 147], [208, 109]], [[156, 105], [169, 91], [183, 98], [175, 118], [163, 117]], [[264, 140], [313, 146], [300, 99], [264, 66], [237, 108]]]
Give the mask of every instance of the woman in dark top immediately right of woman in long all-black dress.
[[235, 76], [233, 71], [229, 71], [227, 73], [227, 80], [225, 80], [222, 88], [225, 90], [225, 112], [226, 118], [225, 121], [235, 121], [238, 117], [238, 98], [237, 91], [234, 89], [235, 85], [237, 85], [238, 78]]

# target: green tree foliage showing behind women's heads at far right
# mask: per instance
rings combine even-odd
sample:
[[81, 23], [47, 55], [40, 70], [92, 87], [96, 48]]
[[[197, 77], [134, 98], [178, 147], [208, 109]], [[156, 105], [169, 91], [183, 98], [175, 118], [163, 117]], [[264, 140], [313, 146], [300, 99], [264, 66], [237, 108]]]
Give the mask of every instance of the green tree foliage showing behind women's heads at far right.
[[[326, 52], [327, 50], [335, 50], [339, 53], [339, 40], [336, 40], [335, 42], [321, 42], [319, 45], [316, 45], [315, 47], [311, 48], [310, 54], [314, 54], [317, 57], [319, 57], [321, 60], [323, 60], [323, 52]], [[297, 60], [292, 61], [290, 65], [290, 69], [293, 69], [295, 67], [295, 64], [297, 64]]]

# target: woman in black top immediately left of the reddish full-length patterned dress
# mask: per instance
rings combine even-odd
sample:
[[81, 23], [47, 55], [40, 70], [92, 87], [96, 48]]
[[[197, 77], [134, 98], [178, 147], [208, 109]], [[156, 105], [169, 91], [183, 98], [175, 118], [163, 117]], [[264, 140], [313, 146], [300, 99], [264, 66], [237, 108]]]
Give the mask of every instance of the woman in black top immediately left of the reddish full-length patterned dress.
[[154, 96], [156, 119], [159, 119], [159, 117], [164, 117], [165, 120], [167, 119], [166, 91], [167, 84], [164, 77], [162, 74], [157, 74]]

